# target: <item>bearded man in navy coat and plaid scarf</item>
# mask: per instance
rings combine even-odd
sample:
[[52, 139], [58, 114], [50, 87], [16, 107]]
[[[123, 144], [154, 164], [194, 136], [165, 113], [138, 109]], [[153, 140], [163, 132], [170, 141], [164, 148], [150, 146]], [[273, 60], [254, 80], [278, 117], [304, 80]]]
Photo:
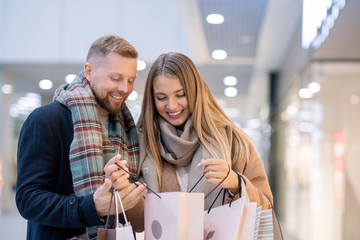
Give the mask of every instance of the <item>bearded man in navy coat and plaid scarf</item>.
[[125, 104], [134, 87], [137, 56], [121, 37], [97, 39], [84, 70], [56, 90], [54, 102], [25, 121], [16, 203], [28, 219], [27, 239], [96, 239], [109, 213], [111, 187], [120, 191], [134, 230], [143, 230], [146, 189], [130, 183], [116, 165], [132, 174], [138, 167], [138, 138]]

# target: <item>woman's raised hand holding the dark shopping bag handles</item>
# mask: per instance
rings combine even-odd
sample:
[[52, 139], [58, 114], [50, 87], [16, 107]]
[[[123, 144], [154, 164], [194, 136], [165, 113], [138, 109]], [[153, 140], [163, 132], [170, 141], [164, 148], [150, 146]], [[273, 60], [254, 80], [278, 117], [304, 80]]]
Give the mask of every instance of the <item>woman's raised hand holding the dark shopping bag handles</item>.
[[201, 159], [198, 167], [203, 168], [203, 174], [208, 183], [217, 185], [226, 178], [220, 186], [231, 192], [238, 190], [238, 176], [224, 159]]

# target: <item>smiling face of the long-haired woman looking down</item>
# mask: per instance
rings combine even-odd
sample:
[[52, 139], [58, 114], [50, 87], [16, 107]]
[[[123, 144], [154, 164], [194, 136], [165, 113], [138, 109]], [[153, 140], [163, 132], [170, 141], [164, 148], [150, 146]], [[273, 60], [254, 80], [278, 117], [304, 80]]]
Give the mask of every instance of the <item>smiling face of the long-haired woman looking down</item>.
[[190, 116], [190, 109], [180, 80], [161, 75], [153, 84], [155, 107], [160, 116], [173, 126], [183, 125]]

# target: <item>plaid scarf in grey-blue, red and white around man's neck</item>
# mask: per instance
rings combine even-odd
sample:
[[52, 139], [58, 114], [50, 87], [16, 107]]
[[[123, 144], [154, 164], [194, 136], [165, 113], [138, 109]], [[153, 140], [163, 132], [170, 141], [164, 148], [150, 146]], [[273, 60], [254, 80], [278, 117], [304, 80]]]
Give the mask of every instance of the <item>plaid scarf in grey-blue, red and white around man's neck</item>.
[[[60, 86], [53, 100], [71, 111], [74, 138], [69, 158], [73, 187], [78, 196], [91, 194], [103, 184], [104, 166], [117, 153], [127, 160], [127, 167], [135, 176], [139, 142], [134, 120], [125, 104], [119, 115], [109, 115], [106, 134], [99, 120], [97, 102], [83, 72], [71, 84]], [[97, 227], [87, 228], [91, 239], [96, 239], [96, 231]]]

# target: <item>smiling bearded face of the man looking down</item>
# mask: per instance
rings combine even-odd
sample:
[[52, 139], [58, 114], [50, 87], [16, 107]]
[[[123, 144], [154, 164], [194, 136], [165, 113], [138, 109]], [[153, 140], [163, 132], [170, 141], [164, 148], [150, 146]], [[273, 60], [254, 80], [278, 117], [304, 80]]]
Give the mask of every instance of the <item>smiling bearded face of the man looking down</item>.
[[136, 67], [136, 58], [125, 58], [113, 52], [95, 63], [85, 64], [85, 76], [101, 116], [119, 113], [134, 89]]

